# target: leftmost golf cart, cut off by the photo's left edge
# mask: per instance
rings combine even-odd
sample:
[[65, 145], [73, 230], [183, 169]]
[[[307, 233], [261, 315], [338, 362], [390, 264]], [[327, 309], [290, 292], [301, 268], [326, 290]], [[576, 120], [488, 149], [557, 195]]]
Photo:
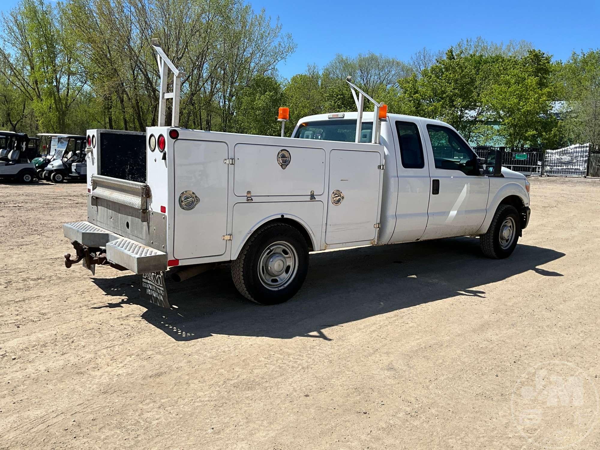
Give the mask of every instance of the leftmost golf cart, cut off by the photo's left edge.
[[24, 133], [0, 131], [0, 178], [31, 183], [35, 178], [31, 163], [37, 149], [30, 148], [29, 137]]

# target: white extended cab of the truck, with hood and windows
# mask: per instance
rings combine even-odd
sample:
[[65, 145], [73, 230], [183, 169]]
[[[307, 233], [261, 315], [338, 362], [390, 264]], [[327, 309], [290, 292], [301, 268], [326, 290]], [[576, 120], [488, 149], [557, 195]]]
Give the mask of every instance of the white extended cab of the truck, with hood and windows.
[[[357, 112], [307, 116], [298, 121], [292, 137], [354, 142], [357, 117]], [[361, 142], [371, 142], [371, 133], [373, 113], [363, 113]], [[527, 226], [526, 177], [505, 167], [500, 176], [488, 176], [451, 125], [388, 114], [380, 133], [385, 170], [377, 244], [482, 235], [500, 204], [517, 209], [519, 230]], [[512, 245], [512, 236], [508, 239]]]

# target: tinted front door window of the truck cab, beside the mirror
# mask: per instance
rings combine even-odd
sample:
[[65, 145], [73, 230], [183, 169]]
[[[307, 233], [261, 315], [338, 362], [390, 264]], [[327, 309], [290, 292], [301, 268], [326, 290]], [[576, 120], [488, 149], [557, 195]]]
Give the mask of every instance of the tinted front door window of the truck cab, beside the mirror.
[[479, 175], [477, 156], [460, 136], [450, 128], [427, 125], [436, 169], [461, 170], [467, 175]]

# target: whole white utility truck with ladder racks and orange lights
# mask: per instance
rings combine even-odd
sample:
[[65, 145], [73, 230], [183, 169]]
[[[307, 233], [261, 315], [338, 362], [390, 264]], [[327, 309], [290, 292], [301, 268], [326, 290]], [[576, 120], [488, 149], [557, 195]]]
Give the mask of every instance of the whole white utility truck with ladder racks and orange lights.
[[155, 49], [160, 126], [120, 166], [110, 148], [86, 149], [88, 220], [64, 225], [77, 251], [67, 267], [143, 274], [143, 293], [168, 306], [167, 268], [183, 280], [230, 262], [239, 292], [270, 305], [298, 292], [310, 251], [479, 236], [503, 258], [527, 226], [529, 182], [499, 151], [484, 164], [448, 124], [387, 114], [350, 80], [359, 112], [303, 118], [291, 138], [180, 128], [183, 74]]

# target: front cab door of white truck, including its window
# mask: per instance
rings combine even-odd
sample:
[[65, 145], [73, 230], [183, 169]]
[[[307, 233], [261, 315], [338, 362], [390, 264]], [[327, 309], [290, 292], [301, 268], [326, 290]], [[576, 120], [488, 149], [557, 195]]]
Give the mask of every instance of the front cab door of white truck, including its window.
[[431, 192], [422, 239], [475, 233], [485, 219], [490, 179], [479, 175], [477, 155], [452, 128], [423, 123]]

